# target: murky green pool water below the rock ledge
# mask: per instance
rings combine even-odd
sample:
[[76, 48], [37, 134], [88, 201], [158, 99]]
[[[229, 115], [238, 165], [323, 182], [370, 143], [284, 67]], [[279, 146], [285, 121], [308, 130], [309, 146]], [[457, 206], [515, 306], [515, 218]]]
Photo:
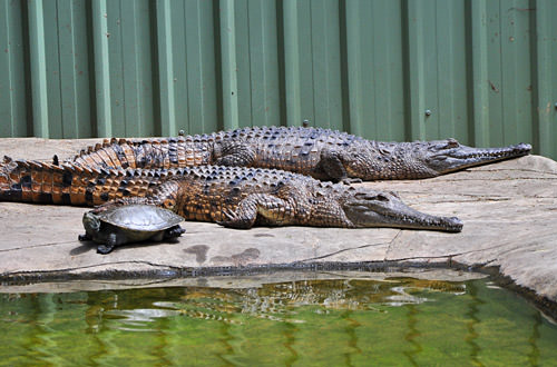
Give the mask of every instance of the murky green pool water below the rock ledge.
[[0, 295], [2, 365], [551, 366], [557, 327], [487, 280]]

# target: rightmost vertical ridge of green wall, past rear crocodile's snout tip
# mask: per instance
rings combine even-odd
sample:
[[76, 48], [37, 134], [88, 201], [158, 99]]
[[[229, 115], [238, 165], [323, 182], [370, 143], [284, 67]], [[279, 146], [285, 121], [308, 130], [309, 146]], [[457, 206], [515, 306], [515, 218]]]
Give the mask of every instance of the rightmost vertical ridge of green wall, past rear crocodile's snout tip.
[[[557, 7], [553, 6], [557, 10]], [[530, 12], [534, 150], [544, 156], [555, 157], [557, 153], [555, 131], [557, 129], [553, 126], [557, 122], [555, 107], [557, 96], [553, 96], [551, 100], [551, 80], [557, 78], [553, 71], [555, 60], [551, 59], [550, 34], [555, 12], [551, 13], [549, 0], [530, 0], [529, 8], [534, 9]]]

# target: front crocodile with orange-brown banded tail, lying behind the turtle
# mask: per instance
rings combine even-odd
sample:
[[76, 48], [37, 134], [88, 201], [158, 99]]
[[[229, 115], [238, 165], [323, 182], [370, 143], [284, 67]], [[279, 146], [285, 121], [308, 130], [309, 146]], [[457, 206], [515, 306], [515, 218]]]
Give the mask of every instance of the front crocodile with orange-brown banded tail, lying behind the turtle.
[[87, 168], [11, 160], [0, 165], [0, 201], [98, 206], [155, 205], [187, 220], [231, 228], [264, 226], [395, 227], [458, 232], [456, 217], [417, 211], [393, 192], [323, 182], [264, 168]]

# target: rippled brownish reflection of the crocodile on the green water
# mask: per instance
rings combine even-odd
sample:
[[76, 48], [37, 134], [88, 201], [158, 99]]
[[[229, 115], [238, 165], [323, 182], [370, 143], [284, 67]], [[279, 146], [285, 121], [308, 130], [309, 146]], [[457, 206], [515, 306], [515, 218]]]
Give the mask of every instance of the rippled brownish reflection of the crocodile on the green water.
[[[109, 319], [119, 319], [118, 328], [126, 330], [146, 326], [156, 318], [187, 316], [197, 319], [242, 324], [242, 317], [266, 318], [276, 321], [303, 323], [295, 319], [296, 308], [319, 306], [316, 313], [332, 309], [377, 310], [378, 305], [403, 306], [428, 301], [427, 291], [453, 295], [466, 292], [463, 282], [414, 278], [301, 280], [266, 284], [253, 288], [149, 288], [90, 294]], [[141, 294], [146, 292], [146, 296]], [[96, 296], [100, 297], [95, 299]], [[101, 305], [101, 306], [99, 306]], [[89, 314], [89, 313], [88, 313]], [[98, 315], [98, 314], [97, 314]], [[98, 329], [102, 317], [90, 315], [89, 326]], [[147, 329], [145, 329], [147, 330]]]

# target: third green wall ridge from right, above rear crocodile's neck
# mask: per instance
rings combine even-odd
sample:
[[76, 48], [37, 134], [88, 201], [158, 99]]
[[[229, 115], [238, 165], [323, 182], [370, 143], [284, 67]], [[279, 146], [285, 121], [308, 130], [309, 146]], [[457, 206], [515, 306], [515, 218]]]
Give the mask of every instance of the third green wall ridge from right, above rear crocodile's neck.
[[416, 1], [404, 0], [402, 7], [403, 27], [405, 28], [405, 65], [407, 75], [407, 119], [410, 123], [409, 137], [412, 140], [426, 138], [426, 97], [423, 67], [423, 30], [422, 10]]

